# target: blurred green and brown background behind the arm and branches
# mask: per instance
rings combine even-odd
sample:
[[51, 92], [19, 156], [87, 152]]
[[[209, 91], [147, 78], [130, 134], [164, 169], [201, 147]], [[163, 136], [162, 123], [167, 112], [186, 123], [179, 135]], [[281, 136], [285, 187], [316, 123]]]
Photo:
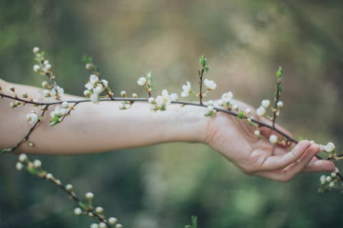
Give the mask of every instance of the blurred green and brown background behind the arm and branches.
[[[342, 1], [0, 0], [0, 77], [40, 86], [32, 71], [38, 46], [71, 94], [81, 95], [88, 79], [85, 53], [115, 91], [143, 94], [137, 78], [152, 71], [156, 92], [180, 93], [186, 80], [196, 84], [205, 53], [218, 84], [211, 99], [232, 90], [257, 106], [272, 99], [281, 65], [279, 123], [342, 149], [342, 24]], [[250, 177], [202, 144], [32, 157], [78, 194], [94, 192], [95, 204], [125, 227], [183, 227], [191, 214], [199, 227], [343, 227], [343, 196], [318, 194], [320, 174], [289, 183]], [[89, 227], [64, 192], [16, 172], [15, 163], [1, 155], [1, 228]]]

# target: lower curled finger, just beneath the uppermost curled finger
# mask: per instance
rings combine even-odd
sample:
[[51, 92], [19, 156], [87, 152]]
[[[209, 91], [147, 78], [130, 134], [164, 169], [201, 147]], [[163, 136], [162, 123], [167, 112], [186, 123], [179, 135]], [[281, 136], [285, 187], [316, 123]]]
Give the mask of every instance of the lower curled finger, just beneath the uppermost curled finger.
[[[271, 170], [271, 171], [262, 171], [257, 172], [255, 175], [259, 175], [261, 177], [266, 177], [268, 179], [274, 179], [276, 181], [289, 181], [292, 179], [294, 175], [299, 173], [309, 162], [311, 162], [314, 155], [316, 155], [320, 151], [320, 147], [318, 144], [312, 144], [310, 147], [307, 147], [305, 153], [300, 157], [299, 160], [290, 164], [286, 168], [280, 170]], [[318, 161], [316, 161], [318, 162]], [[323, 164], [322, 164], [323, 165]], [[317, 165], [318, 166], [318, 165]], [[322, 168], [329, 168], [329, 165], [324, 164], [325, 167]], [[314, 168], [314, 166], [312, 166]], [[318, 167], [316, 167], [318, 168]], [[332, 167], [330, 167], [332, 168]]]

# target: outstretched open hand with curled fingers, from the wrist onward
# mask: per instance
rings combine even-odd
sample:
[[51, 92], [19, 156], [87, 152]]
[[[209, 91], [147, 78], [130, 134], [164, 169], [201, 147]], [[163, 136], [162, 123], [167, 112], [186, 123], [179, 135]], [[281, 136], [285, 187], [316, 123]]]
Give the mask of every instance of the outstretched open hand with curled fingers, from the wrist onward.
[[[252, 107], [239, 101], [234, 102], [241, 110], [250, 108], [251, 115], [256, 120], [268, 123], [266, 119], [257, 116]], [[316, 143], [303, 140], [289, 151], [291, 144], [271, 144], [268, 140], [255, 136], [254, 131], [255, 127], [248, 125], [246, 121], [219, 112], [209, 121], [204, 142], [222, 153], [244, 173], [276, 181], [289, 181], [300, 171], [335, 169], [333, 162], [315, 157], [320, 151], [320, 146]], [[266, 127], [261, 128], [261, 136], [264, 138], [269, 138], [271, 134], [276, 133]]]

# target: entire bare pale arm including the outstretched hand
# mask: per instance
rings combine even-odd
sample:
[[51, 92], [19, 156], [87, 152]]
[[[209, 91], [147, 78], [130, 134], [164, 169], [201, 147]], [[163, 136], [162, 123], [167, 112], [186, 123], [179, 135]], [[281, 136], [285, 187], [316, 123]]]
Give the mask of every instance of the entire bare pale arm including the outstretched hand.
[[[10, 84], [0, 79], [5, 94], [29, 94], [39, 101], [46, 101], [40, 88]], [[80, 100], [82, 97], [65, 94], [62, 100]], [[30, 104], [24, 107], [10, 107], [10, 99], [0, 99], [0, 149], [14, 147], [23, 139], [31, 125], [25, 116], [32, 110], [40, 114], [38, 107]], [[234, 101], [241, 110], [250, 108], [246, 103]], [[335, 165], [327, 160], [314, 157], [320, 147], [316, 143], [303, 140], [292, 149], [273, 145], [254, 135], [254, 127], [233, 116], [217, 113], [213, 118], [203, 114], [205, 107], [172, 104], [165, 112], [151, 112], [147, 103], [136, 102], [129, 110], [119, 110], [116, 101], [80, 103], [71, 116], [54, 127], [49, 126], [49, 107], [45, 121], [34, 130], [29, 140], [34, 147], [21, 144], [16, 153], [36, 154], [81, 154], [114, 151], [131, 147], [143, 147], [163, 142], [200, 142], [224, 155], [239, 169], [249, 175], [257, 175], [276, 181], [289, 181], [300, 172], [333, 171]], [[252, 111], [253, 112], [253, 111]], [[252, 113], [255, 119], [265, 121]], [[279, 127], [279, 126], [278, 126]], [[279, 127], [282, 129], [281, 127]], [[285, 131], [283, 129], [283, 131]], [[287, 132], [287, 131], [286, 131]], [[274, 134], [262, 128], [261, 134], [269, 138]]]

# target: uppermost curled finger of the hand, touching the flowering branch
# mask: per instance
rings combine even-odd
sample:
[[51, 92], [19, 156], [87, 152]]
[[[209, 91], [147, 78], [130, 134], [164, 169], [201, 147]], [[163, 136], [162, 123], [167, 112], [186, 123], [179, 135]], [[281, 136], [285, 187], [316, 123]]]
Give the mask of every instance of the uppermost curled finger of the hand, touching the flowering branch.
[[311, 143], [307, 140], [303, 140], [288, 153], [267, 157], [259, 170], [276, 170], [285, 168], [286, 166], [296, 162], [304, 153], [306, 153], [309, 147], [311, 147]]

